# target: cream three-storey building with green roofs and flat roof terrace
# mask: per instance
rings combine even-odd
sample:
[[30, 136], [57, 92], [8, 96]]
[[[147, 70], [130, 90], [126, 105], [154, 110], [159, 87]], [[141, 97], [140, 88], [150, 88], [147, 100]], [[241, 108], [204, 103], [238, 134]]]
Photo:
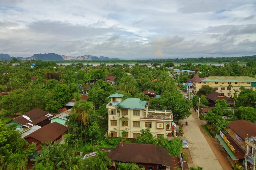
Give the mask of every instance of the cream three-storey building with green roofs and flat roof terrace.
[[[126, 131], [125, 138], [137, 138], [140, 130], [150, 128], [154, 136], [166, 137], [171, 133], [173, 114], [171, 110], [149, 110], [148, 103], [137, 98], [127, 98], [122, 101], [122, 94], [112, 94], [111, 101], [106, 105], [108, 108], [108, 135], [122, 137], [122, 130]], [[118, 104], [121, 106], [117, 112]], [[125, 115], [127, 121], [122, 124], [120, 117]]]

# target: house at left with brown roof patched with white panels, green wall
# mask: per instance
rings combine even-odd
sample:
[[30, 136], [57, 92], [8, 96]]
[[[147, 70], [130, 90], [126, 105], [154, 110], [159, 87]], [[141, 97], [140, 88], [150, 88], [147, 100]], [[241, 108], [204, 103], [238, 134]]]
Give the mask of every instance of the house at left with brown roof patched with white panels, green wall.
[[47, 111], [41, 110], [39, 108], [31, 110], [21, 116], [15, 117], [6, 124], [8, 125], [16, 125], [16, 128], [21, 127], [32, 127], [34, 125], [44, 126], [50, 123], [50, 118], [52, 118], [55, 114], [49, 113]]

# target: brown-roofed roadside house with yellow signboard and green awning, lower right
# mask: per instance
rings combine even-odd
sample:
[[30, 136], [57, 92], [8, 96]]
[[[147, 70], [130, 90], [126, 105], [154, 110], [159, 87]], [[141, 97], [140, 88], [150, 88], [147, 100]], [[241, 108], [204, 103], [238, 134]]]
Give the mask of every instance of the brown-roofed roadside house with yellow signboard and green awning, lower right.
[[227, 125], [229, 128], [226, 129], [226, 133], [220, 131], [217, 138], [234, 161], [235, 166], [240, 169], [244, 165], [244, 156], [248, 148], [246, 138], [256, 136], [256, 124], [246, 120], [238, 120], [229, 122]]

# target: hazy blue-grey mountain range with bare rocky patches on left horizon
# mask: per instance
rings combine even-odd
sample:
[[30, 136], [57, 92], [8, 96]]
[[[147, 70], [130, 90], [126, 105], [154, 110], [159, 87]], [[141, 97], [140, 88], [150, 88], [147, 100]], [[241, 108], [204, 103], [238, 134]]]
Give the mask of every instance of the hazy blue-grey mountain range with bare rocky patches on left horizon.
[[[11, 60], [13, 57], [11, 57], [8, 54], [0, 54], [0, 60]], [[61, 61], [61, 60], [120, 60], [119, 58], [109, 58], [104, 56], [92, 56], [92, 55], [84, 55], [80, 57], [71, 57], [71, 56], [61, 56], [59, 54], [55, 53], [48, 53], [48, 54], [34, 54], [31, 57], [16, 57], [18, 60], [42, 60], [42, 61]]]

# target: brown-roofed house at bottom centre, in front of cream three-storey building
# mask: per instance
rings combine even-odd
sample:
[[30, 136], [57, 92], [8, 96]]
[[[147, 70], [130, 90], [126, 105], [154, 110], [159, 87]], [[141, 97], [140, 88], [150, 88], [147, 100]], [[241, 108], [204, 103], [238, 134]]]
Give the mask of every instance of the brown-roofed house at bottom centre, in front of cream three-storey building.
[[[162, 146], [142, 143], [124, 143], [120, 142], [116, 148], [100, 148], [107, 150], [106, 156], [112, 160], [108, 169], [116, 170], [116, 162], [136, 163], [140, 168], [150, 169], [189, 169], [187, 161], [180, 156], [170, 156], [168, 150]], [[88, 153], [84, 158], [95, 156], [97, 151]]]

